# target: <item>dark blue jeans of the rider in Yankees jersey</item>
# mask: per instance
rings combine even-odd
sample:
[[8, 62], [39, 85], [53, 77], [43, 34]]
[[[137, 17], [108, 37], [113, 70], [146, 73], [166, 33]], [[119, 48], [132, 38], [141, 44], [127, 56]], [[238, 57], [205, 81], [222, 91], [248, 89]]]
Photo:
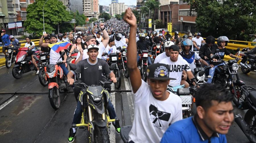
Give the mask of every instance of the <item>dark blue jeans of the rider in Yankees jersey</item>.
[[[115, 109], [110, 100], [108, 101], [107, 109], [108, 109], [108, 114], [109, 114], [110, 119], [115, 119], [116, 118]], [[80, 123], [81, 117], [82, 117], [82, 112], [83, 112], [83, 110], [82, 110], [81, 102], [78, 101], [72, 124]]]

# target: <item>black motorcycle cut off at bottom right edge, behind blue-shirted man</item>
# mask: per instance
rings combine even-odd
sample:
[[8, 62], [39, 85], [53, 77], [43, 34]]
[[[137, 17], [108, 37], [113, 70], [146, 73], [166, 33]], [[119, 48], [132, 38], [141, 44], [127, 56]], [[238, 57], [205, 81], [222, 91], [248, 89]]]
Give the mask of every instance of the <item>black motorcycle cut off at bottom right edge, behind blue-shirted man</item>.
[[247, 110], [244, 119], [240, 114], [235, 115], [235, 121], [241, 128], [245, 136], [252, 143], [256, 143], [256, 89], [250, 86], [242, 86], [245, 101], [239, 106], [242, 110]]

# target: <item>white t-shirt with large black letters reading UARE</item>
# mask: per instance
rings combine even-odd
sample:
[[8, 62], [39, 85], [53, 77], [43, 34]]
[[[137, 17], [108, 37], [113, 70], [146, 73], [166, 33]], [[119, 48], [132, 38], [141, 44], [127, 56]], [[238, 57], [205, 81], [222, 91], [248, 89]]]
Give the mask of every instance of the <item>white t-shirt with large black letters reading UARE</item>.
[[[170, 78], [176, 78], [176, 80], [170, 80], [169, 85], [172, 87], [179, 86], [181, 82], [182, 71], [191, 71], [189, 64], [185, 59], [183, 59], [180, 55], [178, 56], [178, 60], [176, 62], [171, 61], [170, 57], [164, 58], [160, 61], [160, 63], [164, 63], [169, 65], [170, 68]], [[186, 69], [185, 69], [186, 65]]]

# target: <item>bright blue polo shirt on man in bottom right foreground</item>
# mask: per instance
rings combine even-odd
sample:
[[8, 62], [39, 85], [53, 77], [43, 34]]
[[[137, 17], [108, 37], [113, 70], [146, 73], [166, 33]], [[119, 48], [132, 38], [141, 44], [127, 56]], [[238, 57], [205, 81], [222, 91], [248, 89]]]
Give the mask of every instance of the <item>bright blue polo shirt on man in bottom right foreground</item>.
[[[195, 117], [195, 116], [194, 116]], [[218, 133], [208, 138], [193, 117], [173, 123], [160, 143], [226, 143], [226, 136]]]

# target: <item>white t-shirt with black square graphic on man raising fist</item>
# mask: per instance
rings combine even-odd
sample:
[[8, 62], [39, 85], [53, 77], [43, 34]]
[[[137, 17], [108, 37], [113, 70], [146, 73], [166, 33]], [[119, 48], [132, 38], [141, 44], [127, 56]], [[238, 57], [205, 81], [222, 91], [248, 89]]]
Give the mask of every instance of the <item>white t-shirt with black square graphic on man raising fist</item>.
[[150, 86], [141, 80], [134, 96], [134, 120], [129, 141], [159, 143], [169, 125], [182, 119], [181, 98], [170, 93], [165, 101], [153, 97]]

